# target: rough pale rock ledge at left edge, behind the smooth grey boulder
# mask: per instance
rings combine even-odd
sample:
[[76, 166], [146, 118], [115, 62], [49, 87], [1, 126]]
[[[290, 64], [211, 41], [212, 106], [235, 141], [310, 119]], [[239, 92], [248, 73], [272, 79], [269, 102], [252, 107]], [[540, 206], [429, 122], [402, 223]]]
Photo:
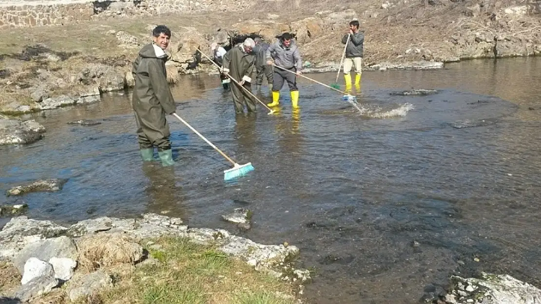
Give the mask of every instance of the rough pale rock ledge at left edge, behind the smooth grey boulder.
[[38, 221], [27, 217], [12, 218], [0, 231], [0, 260], [12, 259], [24, 246], [44, 239], [55, 238], [68, 228], [51, 221]]

